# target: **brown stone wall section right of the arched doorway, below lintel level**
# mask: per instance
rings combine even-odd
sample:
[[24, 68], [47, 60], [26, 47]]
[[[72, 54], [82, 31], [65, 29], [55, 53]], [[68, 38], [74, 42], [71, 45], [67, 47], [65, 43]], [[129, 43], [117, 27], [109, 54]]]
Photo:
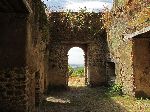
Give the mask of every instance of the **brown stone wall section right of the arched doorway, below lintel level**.
[[88, 83], [90, 86], [106, 84], [106, 55], [101, 42], [87, 46]]

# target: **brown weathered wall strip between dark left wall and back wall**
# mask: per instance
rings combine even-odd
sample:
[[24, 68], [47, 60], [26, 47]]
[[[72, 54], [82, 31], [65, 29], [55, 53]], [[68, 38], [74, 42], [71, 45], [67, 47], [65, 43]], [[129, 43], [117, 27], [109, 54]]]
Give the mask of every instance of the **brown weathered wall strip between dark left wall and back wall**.
[[26, 61], [29, 72], [35, 79], [35, 86], [31, 89], [35, 91], [33, 98], [38, 108], [47, 87], [49, 26], [45, 5], [40, 0], [31, 1], [30, 5], [32, 13], [28, 16], [27, 21]]

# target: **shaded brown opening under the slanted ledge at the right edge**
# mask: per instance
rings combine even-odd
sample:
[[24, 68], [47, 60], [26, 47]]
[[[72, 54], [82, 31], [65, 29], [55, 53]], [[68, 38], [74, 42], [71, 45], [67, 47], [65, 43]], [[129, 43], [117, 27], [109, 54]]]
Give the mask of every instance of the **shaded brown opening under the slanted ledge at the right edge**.
[[133, 38], [135, 96], [150, 97], [150, 32]]

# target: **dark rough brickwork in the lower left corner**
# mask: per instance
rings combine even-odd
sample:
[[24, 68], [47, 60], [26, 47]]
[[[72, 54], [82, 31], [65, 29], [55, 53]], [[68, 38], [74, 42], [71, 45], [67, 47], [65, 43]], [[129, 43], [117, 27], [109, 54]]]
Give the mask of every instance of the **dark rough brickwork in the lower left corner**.
[[2, 112], [28, 111], [27, 100], [30, 96], [26, 91], [28, 88], [26, 75], [23, 69], [7, 69], [7, 71], [0, 72], [0, 109]]

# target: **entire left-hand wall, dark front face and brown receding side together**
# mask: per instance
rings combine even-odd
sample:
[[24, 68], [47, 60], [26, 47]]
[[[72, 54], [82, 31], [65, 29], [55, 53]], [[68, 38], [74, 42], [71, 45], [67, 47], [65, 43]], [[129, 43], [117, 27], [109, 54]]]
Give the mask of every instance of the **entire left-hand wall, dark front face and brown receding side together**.
[[46, 89], [45, 10], [40, 0], [25, 2], [0, 1], [1, 112], [35, 111]]

